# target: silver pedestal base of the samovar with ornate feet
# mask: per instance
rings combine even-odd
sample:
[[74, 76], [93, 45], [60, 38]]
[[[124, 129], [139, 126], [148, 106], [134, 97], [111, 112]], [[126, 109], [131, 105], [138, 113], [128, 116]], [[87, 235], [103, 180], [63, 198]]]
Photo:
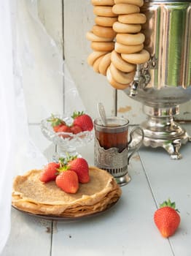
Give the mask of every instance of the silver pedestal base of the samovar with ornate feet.
[[173, 108], [153, 108], [144, 106], [148, 119], [141, 124], [144, 130], [144, 146], [163, 147], [171, 159], [182, 159], [181, 146], [191, 141], [186, 130], [174, 121], [179, 113], [179, 106]]

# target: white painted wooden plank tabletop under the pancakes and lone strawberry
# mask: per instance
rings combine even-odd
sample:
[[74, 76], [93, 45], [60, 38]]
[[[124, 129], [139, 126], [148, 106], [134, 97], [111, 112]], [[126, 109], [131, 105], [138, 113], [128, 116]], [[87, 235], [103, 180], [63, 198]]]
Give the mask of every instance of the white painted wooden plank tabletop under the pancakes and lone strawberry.
[[[93, 143], [80, 152], [93, 165]], [[183, 159], [172, 160], [163, 148], [141, 148], [130, 162], [132, 180], [122, 187], [122, 197], [96, 217], [57, 222], [12, 209], [12, 230], [1, 256], [190, 256], [191, 143], [181, 153]], [[168, 197], [176, 201], [182, 221], [166, 239], [153, 214]]]

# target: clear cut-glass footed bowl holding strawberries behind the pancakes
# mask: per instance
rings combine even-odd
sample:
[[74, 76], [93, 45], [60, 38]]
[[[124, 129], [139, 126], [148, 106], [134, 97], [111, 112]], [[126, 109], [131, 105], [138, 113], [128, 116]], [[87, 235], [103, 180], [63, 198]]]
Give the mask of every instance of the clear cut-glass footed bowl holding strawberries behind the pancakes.
[[[55, 117], [61, 118], [66, 124], [71, 125], [74, 121], [73, 118], [69, 116], [60, 116], [54, 115]], [[55, 132], [52, 129], [52, 125], [50, 121], [51, 117], [45, 118], [41, 121], [40, 127], [42, 134], [47, 140], [52, 141], [55, 145], [58, 146], [57, 152], [60, 157], [64, 157], [67, 154], [70, 155], [78, 155], [76, 148], [80, 146], [85, 146], [91, 140], [93, 140], [93, 130], [79, 132], [77, 134], [73, 134], [71, 132]]]

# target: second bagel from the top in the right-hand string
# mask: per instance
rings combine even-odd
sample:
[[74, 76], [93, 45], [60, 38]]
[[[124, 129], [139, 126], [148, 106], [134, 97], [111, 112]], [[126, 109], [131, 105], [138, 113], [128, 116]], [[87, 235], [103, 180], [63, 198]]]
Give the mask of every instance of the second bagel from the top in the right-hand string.
[[130, 14], [140, 12], [140, 8], [134, 4], [114, 4], [112, 12], [116, 14]]

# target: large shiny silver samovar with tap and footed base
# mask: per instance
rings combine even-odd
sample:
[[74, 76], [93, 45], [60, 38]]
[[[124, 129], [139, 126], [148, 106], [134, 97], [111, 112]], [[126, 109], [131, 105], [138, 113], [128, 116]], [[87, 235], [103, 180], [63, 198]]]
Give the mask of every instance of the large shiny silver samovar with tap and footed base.
[[172, 159], [181, 159], [179, 149], [190, 136], [174, 116], [191, 99], [191, 0], [146, 0], [141, 12], [147, 17], [142, 31], [150, 59], [137, 65], [125, 93], [147, 114], [141, 124], [144, 146], [163, 147]]

